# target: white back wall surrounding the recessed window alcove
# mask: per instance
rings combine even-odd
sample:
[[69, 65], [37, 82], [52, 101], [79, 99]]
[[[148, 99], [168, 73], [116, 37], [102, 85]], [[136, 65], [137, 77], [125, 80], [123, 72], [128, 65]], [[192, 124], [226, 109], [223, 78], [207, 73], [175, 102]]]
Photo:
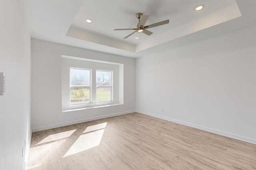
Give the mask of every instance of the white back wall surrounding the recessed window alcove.
[[[62, 55], [124, 64], [124, 105], [62, 112]], [[37, 39], [32, 39], [31, 57], [32, 131], [135, 111], [135, 59]]]

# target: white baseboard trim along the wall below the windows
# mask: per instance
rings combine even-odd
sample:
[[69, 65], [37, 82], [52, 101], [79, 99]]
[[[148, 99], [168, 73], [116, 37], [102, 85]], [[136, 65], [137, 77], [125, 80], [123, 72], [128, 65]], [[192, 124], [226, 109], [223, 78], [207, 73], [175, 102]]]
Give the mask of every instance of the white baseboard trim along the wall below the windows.
[[133, 113], [133, 112], [135, 112], [135, 110], [124, 111], [124, 112], [120, 112], [120, 113], [113, 113], [113, 114], [109, 114], [109, 115], [102, 115], [102, 116], [97, 116], [97, 117], [90, 117], [90, 118], [80, 119], [80, 120], [76, 120], [76, 121], [58, 123], [58, 124], [55, 124], [55, 125], [36, 127], [36, 128], [32, 129], [32, 132], [43, 131], [43, 130], [53, 129], [53, 128], [56, 128], [56, 127], [62, 127], [62, 126], [67, 126], [67, 125], [74, 125], [76, 123], [83, 123], [83, 122], [86, 122], [86, 121], [92, 121], [92, 120], [103, 119], [103, 118], [107, 118], [107, 117], [124, 115], [124, 114], [128, 114], [128, 113]]

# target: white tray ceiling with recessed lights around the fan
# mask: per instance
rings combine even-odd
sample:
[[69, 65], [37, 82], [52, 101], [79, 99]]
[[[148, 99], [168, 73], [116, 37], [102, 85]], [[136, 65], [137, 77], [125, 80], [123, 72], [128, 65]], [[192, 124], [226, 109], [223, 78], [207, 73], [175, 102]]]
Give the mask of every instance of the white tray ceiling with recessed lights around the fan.
[[[256, 25], [255, 0], [25, 0], [31, 37], [126, 57], [141, 57]], [[204, 4], [201, 11], [194, 8]], [[145, 25], [169, 24], [134, 33], [136, 13]], [[92, 19], [87, 23], [86, 19]], [[134, 39], [134, 37], [140, 39]]]

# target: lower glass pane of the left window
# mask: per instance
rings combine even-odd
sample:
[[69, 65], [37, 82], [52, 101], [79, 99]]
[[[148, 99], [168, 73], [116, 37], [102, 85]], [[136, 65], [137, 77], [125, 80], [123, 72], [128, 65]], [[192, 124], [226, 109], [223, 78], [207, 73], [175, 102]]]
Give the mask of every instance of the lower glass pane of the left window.
[[83, 104], [90, 102], [89, 87], [70, 87], [70, 104]]

